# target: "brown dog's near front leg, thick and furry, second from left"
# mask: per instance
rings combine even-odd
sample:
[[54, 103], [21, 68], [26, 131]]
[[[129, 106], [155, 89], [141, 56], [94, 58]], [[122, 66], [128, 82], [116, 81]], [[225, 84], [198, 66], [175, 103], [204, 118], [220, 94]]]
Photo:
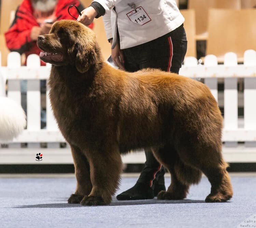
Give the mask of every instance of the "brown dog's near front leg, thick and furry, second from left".
[[117, 145], [104, 145], [101, 151], [86, 151], [90, 164], [93, 188], [81, 205], [96, 206], [110, 204], [119, 185], [122, 159]]

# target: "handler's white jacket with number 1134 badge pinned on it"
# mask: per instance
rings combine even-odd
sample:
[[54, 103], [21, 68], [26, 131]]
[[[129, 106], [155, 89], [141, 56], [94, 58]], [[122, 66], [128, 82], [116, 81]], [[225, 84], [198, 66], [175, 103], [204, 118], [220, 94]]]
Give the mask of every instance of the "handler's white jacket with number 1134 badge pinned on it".
[[[184, 22], [175, 0], [95, 0], [105, 9], [103, 16], [106, 36], [117, 42], [117, 28], [120, 48], [134, 47], [163, 36], [178, 28]], [[133, 9], [128, 5], [142, 6], [151, 19], [144, 25], [132, 22], [127, 13]], [[115, 10], [113, 8], [115, 7]]]

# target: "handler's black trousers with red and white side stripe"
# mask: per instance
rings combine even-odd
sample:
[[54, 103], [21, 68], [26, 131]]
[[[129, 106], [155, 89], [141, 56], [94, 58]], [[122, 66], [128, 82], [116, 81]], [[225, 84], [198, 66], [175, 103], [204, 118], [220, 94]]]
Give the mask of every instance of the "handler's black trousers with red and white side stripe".
[[[186, 51], [186, 32], [181, 25], [174, 31], [150, 42], [123, 49], [125, 69], [134, 72], [143, 68], [157, 68], [179, 74]], [[151, 172], [159, 170], [160, 164], [154, 158], [151, 150], [146, 149], [145, 153], [145, 168]], [[151, 179], [150, 175], [142, 172], [138, 181], [143, 182], [147, 179]]]

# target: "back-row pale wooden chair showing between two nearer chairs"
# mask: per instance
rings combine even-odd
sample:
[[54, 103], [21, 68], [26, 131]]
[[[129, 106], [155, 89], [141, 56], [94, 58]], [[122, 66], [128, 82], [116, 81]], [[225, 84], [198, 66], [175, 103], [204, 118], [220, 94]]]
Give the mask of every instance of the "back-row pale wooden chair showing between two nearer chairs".
[[208, 10], [210, 8], [241, 9], [241, 0], [188, 0], [188, 9], [196, 12], [197, 39], [207, 38]]

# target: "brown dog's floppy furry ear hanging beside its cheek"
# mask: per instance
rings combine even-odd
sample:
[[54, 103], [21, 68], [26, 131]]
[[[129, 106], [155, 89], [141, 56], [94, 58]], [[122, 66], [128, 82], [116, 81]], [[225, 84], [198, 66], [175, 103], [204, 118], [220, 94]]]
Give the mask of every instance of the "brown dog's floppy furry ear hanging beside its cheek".
[[96, 52], [94, 46], [84, 40], [76, 43], [76, 49], [75, 66], [80, 73], [84, 73], [88, 71], [91, 66], [96, 64]]

